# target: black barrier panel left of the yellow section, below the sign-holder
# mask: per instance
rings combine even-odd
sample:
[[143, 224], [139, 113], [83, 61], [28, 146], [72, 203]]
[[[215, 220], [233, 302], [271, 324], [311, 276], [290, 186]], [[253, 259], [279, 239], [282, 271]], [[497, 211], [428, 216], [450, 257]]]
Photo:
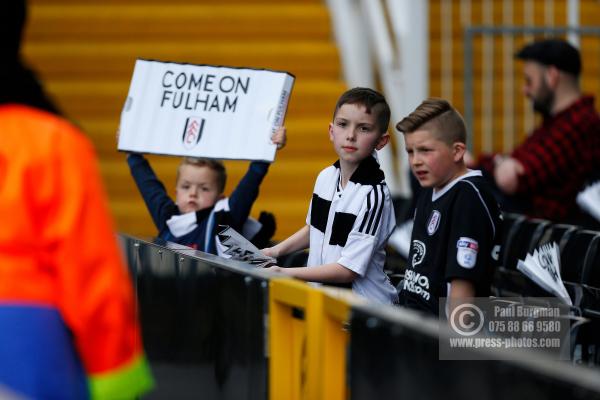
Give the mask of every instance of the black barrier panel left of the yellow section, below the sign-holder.
[[148, 399], [265, 399], [266, 274], [121, 235], [155, 390]]

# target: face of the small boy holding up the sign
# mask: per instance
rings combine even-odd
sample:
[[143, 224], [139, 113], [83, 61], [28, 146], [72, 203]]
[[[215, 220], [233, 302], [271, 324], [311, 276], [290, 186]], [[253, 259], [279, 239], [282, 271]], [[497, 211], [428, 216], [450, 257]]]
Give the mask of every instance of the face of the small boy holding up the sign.
[[212, 207], [221, 197], [217, 173], [206, 166], [183, 164], [175, 193], [182, 214]]

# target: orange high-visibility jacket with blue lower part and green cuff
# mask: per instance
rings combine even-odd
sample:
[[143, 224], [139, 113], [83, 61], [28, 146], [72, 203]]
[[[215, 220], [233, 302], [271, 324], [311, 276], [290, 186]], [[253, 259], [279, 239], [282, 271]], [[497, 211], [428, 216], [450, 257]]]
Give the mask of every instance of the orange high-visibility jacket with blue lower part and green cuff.
[[0, 105], [0, 386], [113, 399], [151, 385], [89, 140], [55, 115]]

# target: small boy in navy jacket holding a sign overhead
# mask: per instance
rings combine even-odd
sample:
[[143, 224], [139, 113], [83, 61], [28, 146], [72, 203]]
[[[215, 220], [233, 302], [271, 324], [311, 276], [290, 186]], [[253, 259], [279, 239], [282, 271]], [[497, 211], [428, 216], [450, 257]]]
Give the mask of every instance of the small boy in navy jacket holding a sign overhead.
[[[271, 140], [277, 149], [285, 146], [285, 128], [279, 128]], [[141, 154], [129, 153], [127, 163], [158, 228], [158, 237], [212, 254], [218, 254], [215, 237], [219, 225], [242, 232], [269, 169], [267, 162], [251, 162], [248, 172], [227, 198], [223, 195], [227, 178], [223, 164], [213, 159], [186, 157], [177, 170], [173, 201]]]

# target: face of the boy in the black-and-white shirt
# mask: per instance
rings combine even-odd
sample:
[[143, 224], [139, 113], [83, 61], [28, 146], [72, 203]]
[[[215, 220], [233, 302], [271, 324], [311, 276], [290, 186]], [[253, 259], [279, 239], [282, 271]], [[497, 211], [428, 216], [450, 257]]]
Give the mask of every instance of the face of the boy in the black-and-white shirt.
[[381, 134], [373, 111], [368, 114], [363, 105], [344, 104], [329, 124], [329, 139], [340, 161], [358, 165], [374, 149], [382, 149], [389, 134]]

